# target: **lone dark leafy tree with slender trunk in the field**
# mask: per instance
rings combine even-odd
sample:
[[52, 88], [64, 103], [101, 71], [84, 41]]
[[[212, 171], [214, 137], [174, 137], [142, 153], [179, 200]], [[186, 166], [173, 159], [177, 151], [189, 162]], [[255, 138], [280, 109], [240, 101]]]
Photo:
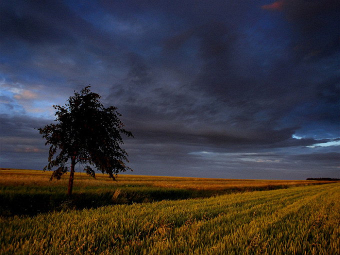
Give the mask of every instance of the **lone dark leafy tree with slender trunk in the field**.
[[113, 180], [118, 172], [132, 170], [125, 165], [124, 161], [128, 162], [127, 153], [120, 147], [123, 143], [121, 134], [133, 137], [132, 133], [123, 128], [117, 108], [105, 108], [99, 101], [100, 95], [90, 92], [89, 88], [90, 85], [84, 87], [80, 94], [74, 91], [65, 106], [53, 105], [58, 123], [38, 128], [46, 139], [45, 145], [51, 145], [44, 170], [57, 167], [50, 180], [60, 179], [70, 168], [69, 198], [77, 163], [86, 164], [84, 171], [92, 177], [95, 177], [95, 172], [91, 166], [95, 166]]

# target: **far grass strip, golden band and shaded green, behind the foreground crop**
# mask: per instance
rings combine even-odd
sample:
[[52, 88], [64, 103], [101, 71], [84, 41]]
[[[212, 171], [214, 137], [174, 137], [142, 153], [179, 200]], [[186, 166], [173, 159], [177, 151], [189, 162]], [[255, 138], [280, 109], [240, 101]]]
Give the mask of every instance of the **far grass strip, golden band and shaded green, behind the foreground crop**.
[[[254, 190], [321, 184], [315, 180], [241, 180], [119, 174], [113, 181], [105, 174], [96, 178], [76, 172], [72, 199], [67, 200], [68, 174], [49, 181], [51, 172], [0, 169], [0, 215], [33, 215], [67, 207], [90, 208], [199, 197]], [[329, 182], [329, 181], [328, 181]]]

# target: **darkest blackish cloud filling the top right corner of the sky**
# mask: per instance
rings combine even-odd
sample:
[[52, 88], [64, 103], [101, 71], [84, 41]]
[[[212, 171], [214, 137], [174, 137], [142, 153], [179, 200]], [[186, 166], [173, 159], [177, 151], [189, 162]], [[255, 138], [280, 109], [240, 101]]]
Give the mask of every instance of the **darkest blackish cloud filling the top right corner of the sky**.
[[280, 1], [281, 11], [294, 24], [295, 49], [303, 56], [322, 57], [338, 53], [340, 21], [338, 1]]

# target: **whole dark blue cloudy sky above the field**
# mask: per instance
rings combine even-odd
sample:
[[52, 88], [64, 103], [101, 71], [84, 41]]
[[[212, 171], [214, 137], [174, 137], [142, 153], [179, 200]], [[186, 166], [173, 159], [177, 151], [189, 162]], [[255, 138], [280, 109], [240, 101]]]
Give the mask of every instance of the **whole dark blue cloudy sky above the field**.
[[35, 128], [90, 84], [134, 135], [133, 174], [339, 178], [339, 13], [337, 0], [1, 0], [0, 167], [42, 169]]

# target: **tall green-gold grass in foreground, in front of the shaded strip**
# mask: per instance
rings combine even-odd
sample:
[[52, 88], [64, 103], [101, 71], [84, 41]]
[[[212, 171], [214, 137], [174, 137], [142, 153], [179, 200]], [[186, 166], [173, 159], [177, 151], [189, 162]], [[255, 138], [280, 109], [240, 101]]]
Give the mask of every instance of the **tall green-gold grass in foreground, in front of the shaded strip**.
[[339, 183], [0, 217], [1, 254], [339, 254]]

